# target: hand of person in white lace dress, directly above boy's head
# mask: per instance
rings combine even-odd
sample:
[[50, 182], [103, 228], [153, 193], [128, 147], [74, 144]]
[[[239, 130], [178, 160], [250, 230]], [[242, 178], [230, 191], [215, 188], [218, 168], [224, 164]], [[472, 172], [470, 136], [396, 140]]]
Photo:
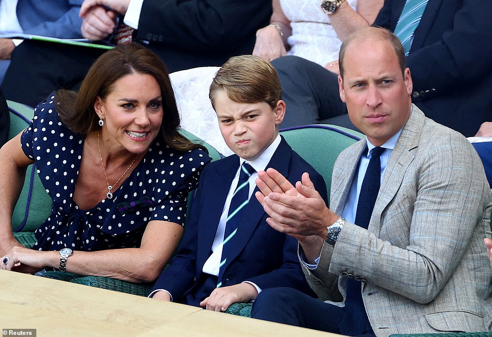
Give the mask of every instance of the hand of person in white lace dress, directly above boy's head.
[[271, 61], [287, 54], [282, 37], [275, 26], [266, 26], [256, 32], [253, 55]]

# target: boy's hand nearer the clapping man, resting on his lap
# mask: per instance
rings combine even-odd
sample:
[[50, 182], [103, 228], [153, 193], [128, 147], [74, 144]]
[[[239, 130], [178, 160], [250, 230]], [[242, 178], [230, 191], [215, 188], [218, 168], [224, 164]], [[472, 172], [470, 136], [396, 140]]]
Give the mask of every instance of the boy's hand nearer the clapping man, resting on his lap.
[[201, 307], [207, 310], [226, 311], [233, 303], [250, 302], [258, 296], [258, 291], [251, 283], [240, 283], [223, 288], [215, 288], [205, 300], [200, 302]]

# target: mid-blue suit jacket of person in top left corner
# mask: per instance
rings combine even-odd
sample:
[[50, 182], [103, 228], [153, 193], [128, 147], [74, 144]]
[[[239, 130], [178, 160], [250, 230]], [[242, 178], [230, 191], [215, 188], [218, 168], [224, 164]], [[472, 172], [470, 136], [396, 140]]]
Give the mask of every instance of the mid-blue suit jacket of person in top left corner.
[[17, 19], [24, 33], [58, 38], [82, 37], [83, 0], [18, 0]]

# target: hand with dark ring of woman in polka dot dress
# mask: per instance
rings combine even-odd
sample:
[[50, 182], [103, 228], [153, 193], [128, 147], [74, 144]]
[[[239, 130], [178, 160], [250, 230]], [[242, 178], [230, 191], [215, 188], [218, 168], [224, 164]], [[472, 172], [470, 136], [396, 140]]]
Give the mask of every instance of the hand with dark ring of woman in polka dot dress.
[[60, 254], [56, 251], [42, 252], [14, 246], [7, 255], [2, 257], [0, 268], [7, 271], [33, 274], [46, 266], [57, 268], [59, 261]]

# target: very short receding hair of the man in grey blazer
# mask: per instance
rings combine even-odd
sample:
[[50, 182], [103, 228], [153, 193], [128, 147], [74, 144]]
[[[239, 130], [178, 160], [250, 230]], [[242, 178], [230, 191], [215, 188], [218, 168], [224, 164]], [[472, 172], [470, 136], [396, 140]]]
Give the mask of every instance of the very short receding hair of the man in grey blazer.
[[344, 68], [343, 61], [345, 59], [345, 53], [347, 51], [348, 46], [352, 41], [361, 41], [368, 38], [385, 40], [391, 44], [396, 57], [398, 58], [398, 63], [400, 65], [401, 74], [405, 74], [406, 68], [406, 58], [405, 51], [401, 46], [400, 40], [396, 37], [395, 34], [382, 27], [366, 27], [360, 30], [355, 31], [349, 37], [345, 39], [342, 43], [342, 47], [340, 48], [340, 56], [338, 58], [339, 67], [340, 67], [340, 76], [343, 78]]

